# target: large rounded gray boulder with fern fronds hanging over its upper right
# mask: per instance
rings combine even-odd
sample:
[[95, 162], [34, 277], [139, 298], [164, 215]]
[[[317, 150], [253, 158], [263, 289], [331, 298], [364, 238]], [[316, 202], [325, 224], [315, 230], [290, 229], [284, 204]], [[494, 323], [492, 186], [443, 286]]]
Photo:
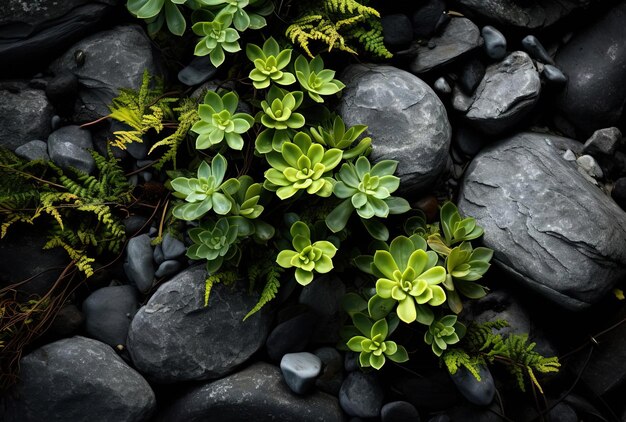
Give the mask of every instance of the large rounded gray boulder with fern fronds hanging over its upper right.
[[268, 315], [243, 317], [256, 304], [243, 283], [217, 284], [204, 306], [204, 266], [161, 285], [133, 319], [128, 349], [135, 367], [162, 383], [222, 377], [265, 342]]

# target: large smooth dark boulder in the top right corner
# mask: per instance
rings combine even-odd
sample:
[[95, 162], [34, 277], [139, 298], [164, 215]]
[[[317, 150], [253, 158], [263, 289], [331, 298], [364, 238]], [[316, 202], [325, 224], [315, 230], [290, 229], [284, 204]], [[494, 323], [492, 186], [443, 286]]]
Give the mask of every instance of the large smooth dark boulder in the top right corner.
[[585, 138], [594, 131], [623, 123], [626, 103], [626, 0], [578, 32], [562, 47], [555, 62], [567, 75], [566, 89], [556, 98], [569, 136]]

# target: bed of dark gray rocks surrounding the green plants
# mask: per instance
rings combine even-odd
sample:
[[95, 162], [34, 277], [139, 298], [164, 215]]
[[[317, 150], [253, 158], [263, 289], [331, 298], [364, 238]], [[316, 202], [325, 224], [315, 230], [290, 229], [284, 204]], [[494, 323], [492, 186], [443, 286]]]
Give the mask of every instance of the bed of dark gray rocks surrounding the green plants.
[[[117, 3], [0, 5], [0, 145], [93, 171], [87, 150], [104, 152], [115, 124], [80, 125], [144, 69], [166, 71]], [[379, 9], [395, 57], [341, 64], [338, 112], [369, 126], [374, 159], [400, 162], [407, 199], [433, 214], [433, 195], [452, 194], [485, 229], [492, 291], [465, 315], [507, 319], [561, 358], [545, 402], [507, 374], [450, 377], [421, 352], [361, 372], [334, 347], [349, 280], [285, 291], [245, 323], [256, 303], [245, 286], [215, 286], [205, 307], [204, 267], [174, 237], [152, 246], [153, 224], [27, 350], [0, 419], [626, 420], [626, 312], [613, 293], [626, 280], [626, 1], [393, 3]], [[215, 73], [202, 59], [179, 70], [190, 91]], [[120, 154], [131, 169], [148, 158], [142, 145]], [[145, 222], [129, 217], [128, 233]], [[41, 272], [67, 258], [43, 243], [27, 231], [0, 242], [2, 285], [35, 276], [22, 289], [45, 293], [58, 273]]]

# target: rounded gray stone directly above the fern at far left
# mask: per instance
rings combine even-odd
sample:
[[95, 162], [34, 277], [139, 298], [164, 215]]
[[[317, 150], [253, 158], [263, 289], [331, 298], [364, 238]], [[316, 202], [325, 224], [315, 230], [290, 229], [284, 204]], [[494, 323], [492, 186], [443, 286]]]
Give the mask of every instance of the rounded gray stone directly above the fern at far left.
[[59, 167], [73, 167], [87, 174], [96, 169], [96, 162], [89, 149], [93, 148], [91, 133], [78, 126], [64, 126], [48, 137], [48, 154]]

